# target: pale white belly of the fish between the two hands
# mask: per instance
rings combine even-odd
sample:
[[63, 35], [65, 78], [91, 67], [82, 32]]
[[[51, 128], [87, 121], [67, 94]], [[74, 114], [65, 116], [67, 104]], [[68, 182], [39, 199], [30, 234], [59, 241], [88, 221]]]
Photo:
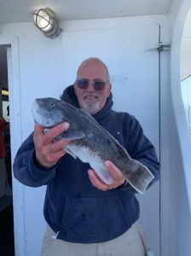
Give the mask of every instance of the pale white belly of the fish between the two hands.
[[100, 177], [104, 183], [108, 185], [113, 183], [113, 177], [104, 165], [104, 161], [100, 156], [90, 151], [90, 148], [68, 144], [64, 149], [68, 154], [71, 154], [73, 158], [76, 159], [78, 157], [82, 162], [89, 163], [91, 168], [95, 170], [97, 176]]

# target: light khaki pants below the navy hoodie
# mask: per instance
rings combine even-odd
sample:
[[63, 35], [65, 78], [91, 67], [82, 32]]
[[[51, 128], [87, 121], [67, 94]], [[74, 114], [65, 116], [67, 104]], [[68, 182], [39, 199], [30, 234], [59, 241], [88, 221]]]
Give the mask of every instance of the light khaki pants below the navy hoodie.
[[47, 227], [43, 236], [41, 256], [146, 256], [147, 247], [138, 222], [122, 236], [111, 241], [82, 244], [53, 238], [55, 233]]

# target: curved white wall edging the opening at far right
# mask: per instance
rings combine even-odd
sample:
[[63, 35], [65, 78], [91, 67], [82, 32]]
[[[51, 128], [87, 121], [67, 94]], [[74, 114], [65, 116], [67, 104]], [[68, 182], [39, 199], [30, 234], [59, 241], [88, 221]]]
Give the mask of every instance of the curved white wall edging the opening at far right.
[[[174, 0], [170, 13], [171, 31], [171, 97], [169, 98], [170, 125], [170, 177], [168, 252], [165, 255], [190, 255], [190, 153], [191, 143], [182, 103], [180, 84], [180, 54], [183, 26], [191, 8], [189, 0]], [[162, 254], [163, 255], [163, 254]]]

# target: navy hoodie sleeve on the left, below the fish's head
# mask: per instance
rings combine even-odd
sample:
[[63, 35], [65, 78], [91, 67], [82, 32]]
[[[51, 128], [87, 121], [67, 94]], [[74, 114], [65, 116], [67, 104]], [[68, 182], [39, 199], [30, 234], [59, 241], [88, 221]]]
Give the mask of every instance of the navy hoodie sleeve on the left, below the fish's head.
[[55, 166], [44, 169], [35, 156], [33, 133], [26, 138], [14, 158], [14, 177], [30, 187], [46, 185], [55, 177]]

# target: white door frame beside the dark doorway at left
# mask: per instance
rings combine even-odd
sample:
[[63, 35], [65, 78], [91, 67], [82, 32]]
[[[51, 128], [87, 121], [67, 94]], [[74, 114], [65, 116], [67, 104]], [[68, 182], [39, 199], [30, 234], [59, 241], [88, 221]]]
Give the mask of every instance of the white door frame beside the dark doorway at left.
[[[17, 148], [22, 142], [21, 114], [20, 114], [20, 67], [19, 40], [16, 36], [0, 36], [0, 44], [8, 46], [8, 81], [9, 81], [9, 113], [10, 113], [10, 145], [12, 163]], [[12, 168], [13, 170], [13, 168]], [[12, 172], [13, 173], [13, 172]], [[12, 175], [13, 176], [13, 175]], [[14, 205], [14, 250], [16, 256], [25, 255], [25, 216], [23, 203], [24, 186], [13, 177], [13, 205]]]

